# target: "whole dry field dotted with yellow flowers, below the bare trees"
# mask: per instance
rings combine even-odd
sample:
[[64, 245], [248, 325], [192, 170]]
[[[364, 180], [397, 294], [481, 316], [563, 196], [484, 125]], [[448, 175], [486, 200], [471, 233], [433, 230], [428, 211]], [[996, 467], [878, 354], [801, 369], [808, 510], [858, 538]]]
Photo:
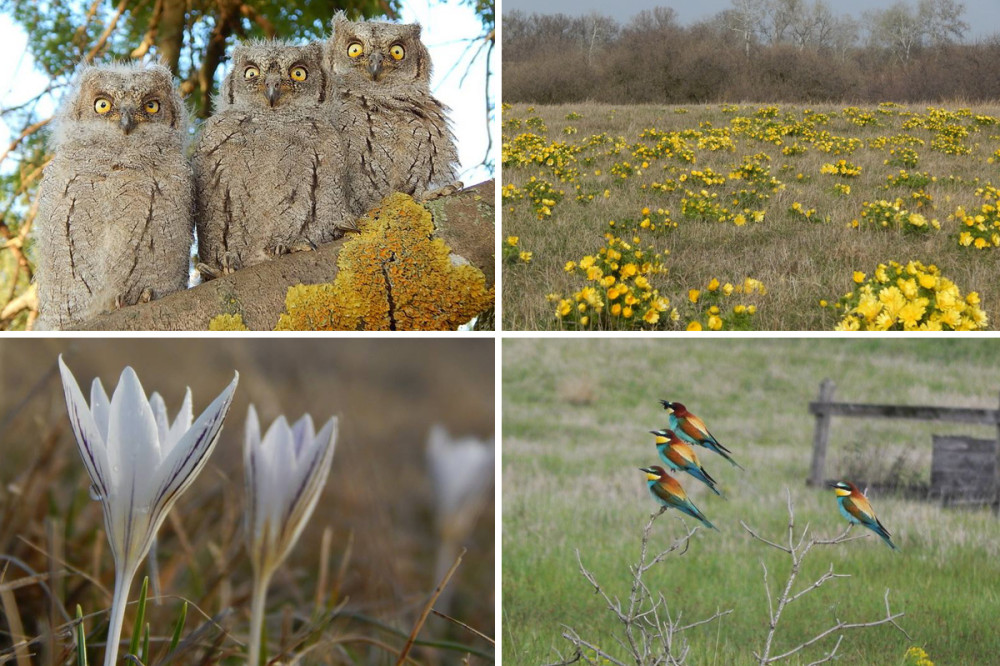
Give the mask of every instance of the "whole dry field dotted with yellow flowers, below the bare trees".
[[502, 128], [507, 330], [1000, 321], [995, 106], [507, 104]]

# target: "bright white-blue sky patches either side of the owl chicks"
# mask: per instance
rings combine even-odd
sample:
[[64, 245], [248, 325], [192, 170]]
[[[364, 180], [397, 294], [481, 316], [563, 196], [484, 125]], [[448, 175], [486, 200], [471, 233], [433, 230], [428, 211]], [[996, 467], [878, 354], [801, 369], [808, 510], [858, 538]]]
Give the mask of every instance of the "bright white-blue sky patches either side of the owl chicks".
[[[485, 52], [475, 66], [468, 68], [472, 55], [468, 40], [482, 32], [482, 24], [471, 7], [457, 0], [403, 0], [402, 6], [402, 22], [417, 21], [423, 26], [421, 35], [434, 62], [431, 87], [435, 96], [452, 109], [462, 163], [460, 178], [466, 185], [487, 180], [490, 174], [486, 169], [475, 168], [483, 161], [487, 147]], [[24, 32], [9, 16], [0, 14], [0, 62], [4, 63], [0, 67], [0, 108], [24, 102], [45, 89], [47, 79], [35, 70], [26, 46]], [[490, 81], [494, 98], [497, 78]], [[39, 105], [39, 113], [43, 117], [50, 114], [57, 103], [47, 100]], [[0, 145], [6, 146], [12, 139], [10, 128], [0, 122]], [[10, 168], [9, 163], [4, 165], [5, 170]]]

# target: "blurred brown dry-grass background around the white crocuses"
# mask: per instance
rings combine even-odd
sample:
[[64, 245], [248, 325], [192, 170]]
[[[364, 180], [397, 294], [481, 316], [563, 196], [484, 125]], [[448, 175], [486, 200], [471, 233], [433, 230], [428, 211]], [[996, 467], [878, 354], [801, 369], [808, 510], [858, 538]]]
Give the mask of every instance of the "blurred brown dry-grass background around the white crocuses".
[[[251, 403], [265, 428], [279, 414], [340, 419], [316, 511], [270, 587], [269, 663], [397, 663], [453, 539], [467, 550], [435, 609], [454, 619], [431, 613], [406, 663], [492, 662], [493, 503], [471, 533], [445, 537], [426, 450], [434, 424], [492, 437], [492, 341], [36, 339], [0, 342], [0, 663], [77, 664], [77, 605], [90, 663], [103, 663], [114, 565], [69, 428], [59, 354], [88, 395], [93, 377], [110, 391], [131, 365], [171, 415], [186, 386], [197, 415], [240, 373], [215, 451], [158, 533], [158, 575], [144, 566], [132, 586], [126, 640], [142, 577], [159, 582], [144, 663], [247, 663]], [[492, 498], [492, 478], [480, 482]], [[167, 655], [185, 602], [179, 647]]]

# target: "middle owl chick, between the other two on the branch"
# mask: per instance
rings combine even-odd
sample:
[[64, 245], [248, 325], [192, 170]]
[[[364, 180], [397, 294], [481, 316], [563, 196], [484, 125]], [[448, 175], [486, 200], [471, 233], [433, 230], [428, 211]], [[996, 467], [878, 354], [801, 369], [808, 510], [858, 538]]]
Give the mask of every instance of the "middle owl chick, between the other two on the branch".
[[237, 46], [194, 156], [199, 270], [217, 277], [353, 227], [319, 43]]

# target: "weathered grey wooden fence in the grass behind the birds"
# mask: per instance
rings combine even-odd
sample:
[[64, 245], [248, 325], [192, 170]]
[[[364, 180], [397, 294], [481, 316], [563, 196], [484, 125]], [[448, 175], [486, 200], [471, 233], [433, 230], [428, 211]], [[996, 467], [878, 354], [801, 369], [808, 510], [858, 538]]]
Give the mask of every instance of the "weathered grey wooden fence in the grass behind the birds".
[[[955, 493], [957, 485], [969, 482], [980, 488], [985, 484], [991, 490], [984, 490], [984, 494], [980, 496], [992, 498], [993, 502], [1000, 501], [1000, 409], [835, 402], [835, 389], [832, 380], [824, 379], [819, 385], [819, 397], [815, 402], [809, 403], [809, 412], [816, 416], [812, 468], [807, 481], [809, 485], [820, 486], [825, 481], [823, 468], [826, 465], [826, 447], [830, 441], [830, 419], [834, 416], [951, 421], [994, 426], [997, 429], [997, 439], [986, 440], [987, 444], [983, 444], [983, 440], [972, 441], [969, 438], [935, 438], [935, 452], [940, 452], [940, 455], [935, 456], [936, 463], [932, 464], [932, 494], [944, 496]], [[983, 461], [990, 456], [992, 465], [984, 465]], [[984, 475], [990, 478], [984, 479]], [[935, 480], [938, 481], [937, 487]]]

